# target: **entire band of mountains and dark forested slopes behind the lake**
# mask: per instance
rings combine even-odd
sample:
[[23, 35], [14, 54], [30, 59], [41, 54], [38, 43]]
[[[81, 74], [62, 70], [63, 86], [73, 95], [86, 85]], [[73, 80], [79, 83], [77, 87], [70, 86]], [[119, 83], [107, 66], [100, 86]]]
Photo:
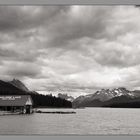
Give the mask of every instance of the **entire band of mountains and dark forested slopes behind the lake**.
[[73, 98], [59, 93], [58, 97], [40, 95], [30, 91], [20, 80], [0, 80], [0, 95], [31, 95], [36, 107], [129, 107], [140, 108], [140, 91], [130, 91], [124, 87], [101, 89], [93, 94]]

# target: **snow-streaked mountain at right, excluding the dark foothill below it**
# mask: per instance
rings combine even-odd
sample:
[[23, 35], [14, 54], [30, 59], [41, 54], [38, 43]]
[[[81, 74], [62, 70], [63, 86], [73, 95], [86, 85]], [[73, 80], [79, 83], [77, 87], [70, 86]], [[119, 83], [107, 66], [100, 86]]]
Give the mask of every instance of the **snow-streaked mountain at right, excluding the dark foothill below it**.
[[101, 89], [94, 94], [88, 94], [85, 96], [79, 96], [73, 101], [74, 106], [101, 106], [103, 102], [115, 98], [127, 97], [130, 99], [135, 98], [135, 94], [126, 88], [114, 88], [114, 89]]

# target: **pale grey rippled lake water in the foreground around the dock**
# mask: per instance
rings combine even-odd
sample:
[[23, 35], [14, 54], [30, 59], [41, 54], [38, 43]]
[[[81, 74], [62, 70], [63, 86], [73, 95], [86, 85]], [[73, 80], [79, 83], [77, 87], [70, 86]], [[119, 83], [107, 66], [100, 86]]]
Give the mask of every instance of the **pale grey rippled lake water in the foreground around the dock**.
[[0, 116], [0, 134], [140, 135], [140, 109], [41, 109], [76, 114]]

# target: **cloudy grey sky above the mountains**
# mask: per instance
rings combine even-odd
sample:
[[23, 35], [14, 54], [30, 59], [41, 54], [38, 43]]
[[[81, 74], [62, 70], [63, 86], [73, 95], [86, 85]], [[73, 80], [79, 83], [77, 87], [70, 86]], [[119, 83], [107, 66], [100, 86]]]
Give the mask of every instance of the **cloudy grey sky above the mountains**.
[[13, 78], [42, 93], [140, 89], [140, 8], [0, 6], [0, 79]]

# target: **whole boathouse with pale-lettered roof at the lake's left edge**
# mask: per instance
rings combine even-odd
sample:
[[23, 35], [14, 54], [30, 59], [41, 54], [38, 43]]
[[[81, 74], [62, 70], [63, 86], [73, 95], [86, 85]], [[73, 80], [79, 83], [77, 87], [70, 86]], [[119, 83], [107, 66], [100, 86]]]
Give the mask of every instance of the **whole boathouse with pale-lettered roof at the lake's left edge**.
[[0, 111], [9, 113], [31, 114], [33, 101], [30, 95], [0, 96]]

